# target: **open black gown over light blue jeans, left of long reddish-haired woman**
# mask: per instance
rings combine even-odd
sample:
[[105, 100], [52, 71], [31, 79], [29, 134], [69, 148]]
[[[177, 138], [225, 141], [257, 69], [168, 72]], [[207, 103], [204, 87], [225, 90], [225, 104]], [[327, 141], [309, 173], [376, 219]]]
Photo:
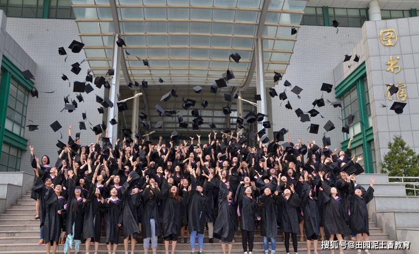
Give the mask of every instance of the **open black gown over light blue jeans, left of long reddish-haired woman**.
[[157, 188], [150, 189], [145, 188], [141, 193], [141, 199], [143, 202], [143, 214], [141, 216], [141, 232], [143, 238], [152, 237], [152, 226], [150, 219], [154, 219], [155, 234], [160, 234], [160, 221], [158, 214], [158, 203], [161, 202], [161, 193]]

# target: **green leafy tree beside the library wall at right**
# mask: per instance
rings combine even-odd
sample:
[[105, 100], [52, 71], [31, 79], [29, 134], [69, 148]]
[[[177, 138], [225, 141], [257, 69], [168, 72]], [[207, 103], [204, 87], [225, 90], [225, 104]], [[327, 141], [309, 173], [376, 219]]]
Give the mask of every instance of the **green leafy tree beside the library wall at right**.
[[390, 177], [419, 176], [419, 155], [406, 145], [401, 136], [394, 135], [388, 148], [381, 163], [382, 173], [388, 173]]

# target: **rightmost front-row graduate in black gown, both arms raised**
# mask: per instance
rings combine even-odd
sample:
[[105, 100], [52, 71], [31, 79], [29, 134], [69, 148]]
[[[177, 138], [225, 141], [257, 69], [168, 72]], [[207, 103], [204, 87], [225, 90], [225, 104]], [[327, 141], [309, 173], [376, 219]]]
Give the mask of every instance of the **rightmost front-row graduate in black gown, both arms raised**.
[[[369, 223], [368, 223], [368, 209], [367, 204], [374, 198], [374, 178], [371, 178], [371, 184], [367, 189], [366, 194], [362, 193], [362, 189], [355, 188], [353, 179], [354, 175], [351, 175], [348, 179], [349, 182], [349, 228], [352, 234], [356, 234], [356, 241], [361, 242], [362, 237], [364, 241], [369, 241]], [[361, 250], [358, 250], [360, 253]], [[369, 254], [368, 250], [365, 250], [365, 254]]]

